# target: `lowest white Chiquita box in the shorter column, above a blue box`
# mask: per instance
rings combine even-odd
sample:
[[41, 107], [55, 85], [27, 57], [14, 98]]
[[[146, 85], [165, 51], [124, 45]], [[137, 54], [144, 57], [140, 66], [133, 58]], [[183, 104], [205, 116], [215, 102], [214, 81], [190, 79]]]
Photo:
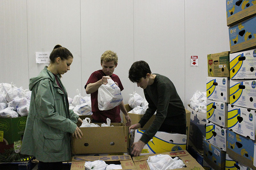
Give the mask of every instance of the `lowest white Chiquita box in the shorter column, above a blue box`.
[[206, 140], [214, 146], [226, 151], [227, 128], [218, 126], [210, 121], [206, 122]]

